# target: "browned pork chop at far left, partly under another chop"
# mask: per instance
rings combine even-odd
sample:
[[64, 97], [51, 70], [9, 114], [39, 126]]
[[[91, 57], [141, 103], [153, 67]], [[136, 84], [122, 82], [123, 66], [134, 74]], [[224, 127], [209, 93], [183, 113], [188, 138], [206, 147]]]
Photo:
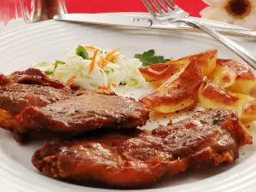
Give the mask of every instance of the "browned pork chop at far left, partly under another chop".
[[13, 131], [16, 117], [26, 107], [44, 107], [72, 96], [65, 84], [49, 79], [38, 69], [27, 69], [9, 76], [0, 74], [0, 126]]

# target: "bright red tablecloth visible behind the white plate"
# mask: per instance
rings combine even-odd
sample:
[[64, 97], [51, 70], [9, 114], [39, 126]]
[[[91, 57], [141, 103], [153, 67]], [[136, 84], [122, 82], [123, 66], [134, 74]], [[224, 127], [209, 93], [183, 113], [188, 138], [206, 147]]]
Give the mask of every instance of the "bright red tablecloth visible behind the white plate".
[[[31, 0], [26, 0], [30, 5]], [[207, 5], [202, 0], [174, 0], [175, 3], [192, 16]], [[15, 17], [15, 9], [9, 10], [9, 0], [0, 1], [0, 22]], [[141, 0], [66, 0], [68, 13], [106, 13], [106, 12], [147, 12]], [[14, 8], [14, 7], [12, 7]]]

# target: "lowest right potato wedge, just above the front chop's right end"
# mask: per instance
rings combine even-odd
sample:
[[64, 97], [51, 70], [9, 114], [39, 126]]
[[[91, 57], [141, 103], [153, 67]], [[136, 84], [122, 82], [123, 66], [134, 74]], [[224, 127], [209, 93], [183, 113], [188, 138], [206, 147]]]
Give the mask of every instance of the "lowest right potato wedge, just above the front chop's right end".
[[206, 108], [234, 110], [243, 122], [256, 120], [256, 101], [252, 96], [224, 90], [209, 79], [203, 80], [198, 98]]

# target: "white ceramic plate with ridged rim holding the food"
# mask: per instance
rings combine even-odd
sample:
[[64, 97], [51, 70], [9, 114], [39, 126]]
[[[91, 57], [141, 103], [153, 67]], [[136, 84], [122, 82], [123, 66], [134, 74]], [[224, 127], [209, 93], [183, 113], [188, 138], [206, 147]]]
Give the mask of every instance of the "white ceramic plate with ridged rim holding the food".
[[[239, 44], [256, 54], [256, 44], [236, 39]], [[0, 71], [10, 73], [30, 67], [33, 62], [62, 59], [69, 49], [79, 44], [94, 44], [102, 48], [121, 47], [133, 56], [148, 49], [166, 57], [179, 58], [206, 49], [218, 49], [219, 57], [238, 59], [224, 46], [204, 34], [160, 32], [134, 28], [81, 25], [54, 20], [23, 29], [0, 33]], [[137, 90], [142, 94], [143, 90]], [[133, 90], [131, 90], [133, 92]], [[160, 122], [166, 123], [166, 122]], [[153, 127], [156, 123], [148, 125]], [[250, 129], [254, 137], [256, 131]], [[15, 143], [7, 131], [0, 131], [0, 191], [1, 192], [105, 192], [100, 189], [64, 183], [37, 172], [31, 157], [42, 143], [22, 146]], [[185, 172], [167, 177], [144, 191], [255, 191], [256, 146], [241, 148], [241, 157], [233, 165], [219, 166], [205, 172]]]

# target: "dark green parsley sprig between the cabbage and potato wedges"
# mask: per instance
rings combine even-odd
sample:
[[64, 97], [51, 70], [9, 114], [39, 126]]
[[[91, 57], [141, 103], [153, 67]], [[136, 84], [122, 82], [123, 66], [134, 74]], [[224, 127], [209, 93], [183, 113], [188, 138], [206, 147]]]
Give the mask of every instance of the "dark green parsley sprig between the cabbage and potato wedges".
[[165, 59], [164, 56], [155, 55], [154, 49], [150, 49], [143, 54], [136, 54], [134, 57], [143, 62], [143, 67], [147, 67], [155, 63], [165, 63], [167, 61], [171, 61], [170, 59]]

